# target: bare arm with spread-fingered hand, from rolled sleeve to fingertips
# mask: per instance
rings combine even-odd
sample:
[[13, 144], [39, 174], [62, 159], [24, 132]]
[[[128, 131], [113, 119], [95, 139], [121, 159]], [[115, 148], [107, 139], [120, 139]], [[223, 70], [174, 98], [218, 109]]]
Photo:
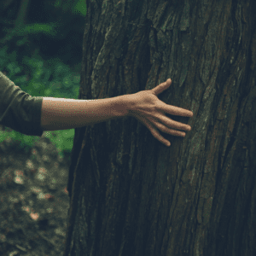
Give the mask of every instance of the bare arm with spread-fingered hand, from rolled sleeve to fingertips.
[[[41, 126], [44, 131], [66, 130], [85, 125], [132, 116], [143, 123], [160, 143], [170, 146], [158, 131], [184, 137], [183, 131], [190, 131], [191, 126], [174, 121], [166, 113], [193, 117], [193, 113], [184, 108], [177, 108], [161, 102], [157, 97], [172, 84], [171, 79], [159, 84], [152, 90], [142, 90], [134, 94], [116, 96], [99, 100], [73, 100], [65, 98], [43, 98]], [[182, 130], [182, 131], [179, 131]]]

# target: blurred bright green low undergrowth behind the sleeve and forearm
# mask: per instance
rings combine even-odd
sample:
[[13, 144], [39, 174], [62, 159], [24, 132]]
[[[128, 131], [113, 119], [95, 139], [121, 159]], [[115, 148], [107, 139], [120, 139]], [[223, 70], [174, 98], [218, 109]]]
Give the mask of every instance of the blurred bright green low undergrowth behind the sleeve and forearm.
[[[7, 54], [8, 46], [0, 49], [0, 71], [7, 70], [8, 78], [21, 90], [31, 96], [45, 96], [77, 99], [79, 96], [80, 75], [63, 64], [60, 59], [44, 61], [40, 55], [24, 56], [22, 64], [16, 61], [16, 51]], [[28, 75], [29, 73], [29, 75]], [[59, 153], [70, 153], [73, 148], [74, 129], [44, 131]], [[39, 140], [36, 136], [27, 136], [18, 131], [0, 131], [0, 143], [6, 139], [15, 141], [19, 149], [26, 152]]]

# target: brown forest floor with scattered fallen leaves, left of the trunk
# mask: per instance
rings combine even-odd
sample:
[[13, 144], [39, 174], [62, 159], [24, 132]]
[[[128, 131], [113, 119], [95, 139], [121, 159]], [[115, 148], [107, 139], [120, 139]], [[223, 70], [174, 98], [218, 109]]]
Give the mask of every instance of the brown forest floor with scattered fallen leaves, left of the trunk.
[[44, 133], [28, 153], [0, 143], [0, 255], [62, 255], [69, 166]]

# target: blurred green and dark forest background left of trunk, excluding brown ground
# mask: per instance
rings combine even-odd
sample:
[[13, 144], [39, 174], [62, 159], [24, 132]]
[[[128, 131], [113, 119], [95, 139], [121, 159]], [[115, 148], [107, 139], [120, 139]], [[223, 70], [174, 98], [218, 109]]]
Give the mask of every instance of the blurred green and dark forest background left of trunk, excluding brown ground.
[[[31, 96], [79, 97], [85, 0], [1, 0], [0, 71]], [[44, 131], [59, 153], [71, 152], [74, 129]], [[1, 131], [22, 150], [39, 137]]]

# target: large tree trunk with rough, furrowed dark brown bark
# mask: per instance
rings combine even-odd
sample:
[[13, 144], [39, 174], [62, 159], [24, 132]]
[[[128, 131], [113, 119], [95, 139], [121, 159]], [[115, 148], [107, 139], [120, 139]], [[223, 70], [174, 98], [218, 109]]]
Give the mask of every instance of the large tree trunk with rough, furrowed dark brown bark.
[[127, 117], [76, 129], [64, 255], [256, 255], [254, 0], [87, 1], [79, 99], [150, 90], [184, 138]]

